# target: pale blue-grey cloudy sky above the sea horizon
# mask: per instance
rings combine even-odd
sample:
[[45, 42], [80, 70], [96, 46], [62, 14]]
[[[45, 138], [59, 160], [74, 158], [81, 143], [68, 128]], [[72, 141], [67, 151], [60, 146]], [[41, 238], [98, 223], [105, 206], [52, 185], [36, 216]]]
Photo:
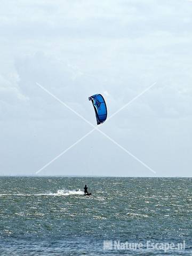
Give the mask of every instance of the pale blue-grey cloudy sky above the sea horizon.
[[2, 0], [0, 173], [191, 177], [192, 1]]

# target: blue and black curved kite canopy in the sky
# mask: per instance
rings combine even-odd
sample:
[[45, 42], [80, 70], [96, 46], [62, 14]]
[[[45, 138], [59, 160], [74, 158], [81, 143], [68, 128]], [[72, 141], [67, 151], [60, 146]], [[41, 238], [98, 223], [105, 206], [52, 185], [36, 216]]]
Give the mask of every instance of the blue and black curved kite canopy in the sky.
[[89, 100], [93, 103], [97, 124], [102, 124], [107, 119], [107, 106], [104, 98], [101, 94], [95, 94], [89, 97]]

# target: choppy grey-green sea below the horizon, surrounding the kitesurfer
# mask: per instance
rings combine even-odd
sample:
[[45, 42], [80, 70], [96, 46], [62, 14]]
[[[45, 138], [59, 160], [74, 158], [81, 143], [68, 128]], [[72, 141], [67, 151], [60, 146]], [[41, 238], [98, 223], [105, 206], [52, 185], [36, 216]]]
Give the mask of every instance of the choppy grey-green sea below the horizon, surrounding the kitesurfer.
[[0, 177], [0, 255], [192, 255], [191, 220], [191, 178]]

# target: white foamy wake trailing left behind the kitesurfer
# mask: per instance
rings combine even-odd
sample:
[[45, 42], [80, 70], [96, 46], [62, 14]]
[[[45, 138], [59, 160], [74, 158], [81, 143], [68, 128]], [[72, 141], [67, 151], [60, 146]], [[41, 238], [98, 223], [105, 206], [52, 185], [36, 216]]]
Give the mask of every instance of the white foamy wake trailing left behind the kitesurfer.
[[56, 193], [42, 193], [42, 194], [0, 194], [1, 196], [70, 196], [70, 195], [84, 195], [81, 189], [59, 189]]

